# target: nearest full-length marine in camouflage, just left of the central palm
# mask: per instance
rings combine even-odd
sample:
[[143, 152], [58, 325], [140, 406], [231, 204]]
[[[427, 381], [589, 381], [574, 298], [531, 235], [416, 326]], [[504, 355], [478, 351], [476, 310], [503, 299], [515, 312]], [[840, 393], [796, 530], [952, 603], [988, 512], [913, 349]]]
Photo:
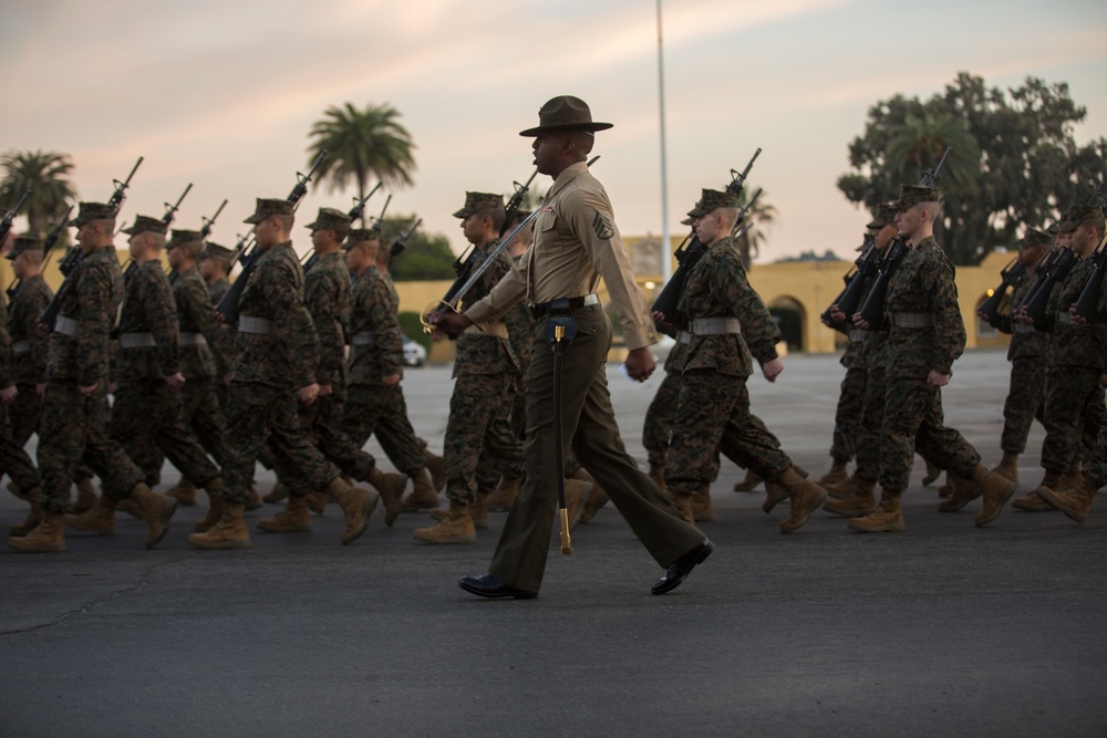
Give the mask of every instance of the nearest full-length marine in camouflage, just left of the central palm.
[[255, 214], [246, 220], [255, 224], [260, 253], [251, 272], [239, 277], [247, 282], [238, 303], [238, 334], [227, 392], [225, 506], [218, 524], [188, 537], [197, 548], [249, 547], [242, 516], [254, 466], [266, 444], [290, 495], [288, 508], [260, 520], [260, 530], [310, 530], [307, 496], [324, 491], [342, 506], [345, 529], [341, 541], [348, 544], [365, 531], [379, 500], [376, 492], [343, 481], [339, 469], [319, 453], [297, 422], [297, 397], [311, 403], [319, 393], [319, 336], [303, 304], [303, 270], [289, 240], [292, 207], [288, 200], [259, 198]]

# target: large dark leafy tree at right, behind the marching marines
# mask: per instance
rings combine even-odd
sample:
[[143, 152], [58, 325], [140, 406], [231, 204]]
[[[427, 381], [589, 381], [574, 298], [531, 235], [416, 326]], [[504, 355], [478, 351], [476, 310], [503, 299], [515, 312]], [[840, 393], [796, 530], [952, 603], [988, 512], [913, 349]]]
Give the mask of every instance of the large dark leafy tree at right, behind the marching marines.
[[940, 240], [954, 263], [974, 264], [1025, 228], [1048, 226], [1104, 181], [1107, 139], [1074, 139], [1085, 116], [1065, 83], [1027, 77], [1004, 92], [962, 72], [927, 102], [896, 95], [873, 105], [838, 188], [875, 211], [953, 146], [942, 171]]

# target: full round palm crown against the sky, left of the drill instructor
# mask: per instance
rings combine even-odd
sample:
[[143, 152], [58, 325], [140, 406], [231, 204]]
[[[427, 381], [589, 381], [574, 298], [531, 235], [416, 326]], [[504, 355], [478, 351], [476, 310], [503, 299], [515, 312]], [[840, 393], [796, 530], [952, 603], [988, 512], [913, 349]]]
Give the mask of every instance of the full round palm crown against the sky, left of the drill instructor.
[[[353, 103], [332, 105], [321, 121], [311, 126], [311, 162], [322, 149], [330, 152], [319, 167], [320, 180], [327, 180], [328, 191], [345, 189], [352, 177], [358, 184], [358, 197], [364, 198], [370, 177], [385, 185], [412, 185], [415, 145], [411, 134], [396, 118], [400, 113], [385, 103], [358, 110]], [[362, 225], [365, 218], [362, 217]]]

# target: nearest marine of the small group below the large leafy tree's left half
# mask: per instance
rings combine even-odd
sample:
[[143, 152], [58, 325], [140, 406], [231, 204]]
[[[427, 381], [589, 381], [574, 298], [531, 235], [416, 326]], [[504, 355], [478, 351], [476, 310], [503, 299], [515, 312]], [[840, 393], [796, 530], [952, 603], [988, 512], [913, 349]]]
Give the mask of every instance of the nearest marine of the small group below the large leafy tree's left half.
[[[990, 472], [976, 449], [944, 425], [940, 387], [964, 351], [965, 331], [953, 266], [932, 236], [938, 190], [902, 187], [897, 226], [904, 252], [888, 281], [883, 304], [888, 370], [880, 438], [880, 509], [850, 521], [862, 532], [903, 530], [900, 497], [907, 489], [915, 447], [924, 458], [980, 488], [984, 510], [977, 526], [994, 520], [1015, 484]], [[899, 245], [893, 245], [896, 249]], [[863, 321], [861, 328], [869, 328]], [[968, 484], [968, 482], [966, 482]], [[946, 509], [943, 507], [942, 509]]]

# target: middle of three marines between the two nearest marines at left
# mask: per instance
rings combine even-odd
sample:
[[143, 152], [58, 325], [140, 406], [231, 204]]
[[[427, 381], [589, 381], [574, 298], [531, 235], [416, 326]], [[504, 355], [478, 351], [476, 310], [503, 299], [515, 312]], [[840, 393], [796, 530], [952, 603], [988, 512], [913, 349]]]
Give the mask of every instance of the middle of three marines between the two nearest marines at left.
[[[216, 320], [208, 300], [207, 285], [196, 268], [201, 252], [203, 236], [198, 231], [175, 230], [168, 243], [169, 264], [173, 267], [173, 301], [177, 310], [179, 329], [178, 366], [185, 383], [178, 391], [180, 417], [190, 434], [199, 441], [211, 458], [223, 464], [223, 430], [226, 425], [223, 409], [215, 394], [217, 384], [230, 364], [234, 345], [230, 334]], [[183, 470], [184, 471], [184, 470]], [[182, 485], [167, 493], [182, 502], [195, 502], [196, 485], [201, 479], [192, 479], [185, 472]], [[214, 526], [223, 508], [223, 498], [217, 490], [208, 489], [208, 514], [197, 523], [198, 530]]]

